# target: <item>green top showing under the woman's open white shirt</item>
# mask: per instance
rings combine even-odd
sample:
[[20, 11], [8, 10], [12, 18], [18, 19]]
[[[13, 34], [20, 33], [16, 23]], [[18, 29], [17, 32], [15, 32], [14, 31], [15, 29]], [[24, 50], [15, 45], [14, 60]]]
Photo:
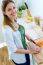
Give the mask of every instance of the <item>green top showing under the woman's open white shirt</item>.
[[26, 39], [25, 39], [25, 29], [23, 26], [19, 25], [19, 32], [21, 34], [21, 41], [24, 49], [27, 49]]

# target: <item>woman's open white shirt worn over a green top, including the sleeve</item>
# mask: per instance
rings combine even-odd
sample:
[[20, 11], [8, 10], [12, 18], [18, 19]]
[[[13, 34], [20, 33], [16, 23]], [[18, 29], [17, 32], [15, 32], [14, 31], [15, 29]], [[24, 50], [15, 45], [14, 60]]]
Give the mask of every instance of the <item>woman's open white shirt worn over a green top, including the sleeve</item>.
[[5, 39], [8, 45], [8, 49], [11, 52], [11, 59], [13, 59], [16, 63], [25, 63], [25, 54], [15, 53], [17, 48], [23, 48], [20, 32], [14, 32], [9, 26], [7, 26], [4, 30]]

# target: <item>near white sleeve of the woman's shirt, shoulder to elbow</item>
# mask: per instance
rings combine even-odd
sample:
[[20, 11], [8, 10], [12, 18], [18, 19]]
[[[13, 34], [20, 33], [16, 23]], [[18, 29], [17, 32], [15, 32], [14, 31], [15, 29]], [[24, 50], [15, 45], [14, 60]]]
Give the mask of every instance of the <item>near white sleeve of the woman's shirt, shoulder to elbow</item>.
[[8, 45], [8, 48], [11, 52], [16, 52], [17, 47], [15, 45], [15, 42], [13, 40], [13, 35], [11, 29], [7, 28], [5, 30], [5, 41]]

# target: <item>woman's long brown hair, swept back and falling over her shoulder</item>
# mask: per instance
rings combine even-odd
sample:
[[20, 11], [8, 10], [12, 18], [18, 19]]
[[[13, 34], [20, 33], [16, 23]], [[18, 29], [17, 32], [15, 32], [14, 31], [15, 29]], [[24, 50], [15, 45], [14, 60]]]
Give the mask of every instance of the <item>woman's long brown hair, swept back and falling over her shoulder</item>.
[[[11, 25], [12, 21], [8, 18], [7, 15], [4, 14], [5, 9], [6, 9], [7, 5], [8, 5], [10, 2], [14, 3], [13, 0], [3, 0], [3, 1], [2, 1], [2, 12], [3, 12], [3, 15], [4, 15], [4, 22], [3, 22], [3, 24], [4, 24], [4, 25], [9, 25], [9, 26], [12, 27], [12, 25]], [[14, 3], [14, 4], [15, 4], [15, 3]]]

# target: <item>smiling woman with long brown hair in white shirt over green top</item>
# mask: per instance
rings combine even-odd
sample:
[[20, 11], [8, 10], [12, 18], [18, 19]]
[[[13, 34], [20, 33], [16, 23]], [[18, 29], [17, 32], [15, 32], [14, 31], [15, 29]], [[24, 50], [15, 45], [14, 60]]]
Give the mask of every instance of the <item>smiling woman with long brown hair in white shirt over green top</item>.
[[16, 65], [30, 65], [29, 53], [38, 53], [39, 48], [37, 51], [27, 50], [24, 27], [17, 24], [15, 3], [12, 0], [3, 0], [2, 3], [6, 43], [11, 59]]

